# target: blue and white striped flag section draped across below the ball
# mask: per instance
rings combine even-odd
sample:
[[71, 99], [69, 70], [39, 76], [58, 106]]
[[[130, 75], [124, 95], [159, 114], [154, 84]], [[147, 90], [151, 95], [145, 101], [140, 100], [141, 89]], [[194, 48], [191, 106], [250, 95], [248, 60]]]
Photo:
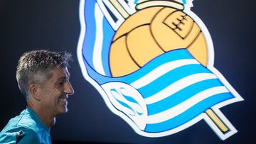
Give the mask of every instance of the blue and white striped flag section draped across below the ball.
[[[106, 79], [97, 75], [95, 80], [114, 98], [110, 101], [115, 101], [113, 104], [120, 111], [136, 112], [132, 105], [141, 108], [146, 105], [142, 110], [146, 113], [143, 131], [149, 133], [182, 126], [211, 106], [234, 98], [218, 77], [185, 49], [166, 52], [127, 76]], [[118, 86], [120, 83], [123, 84]], [[134, 93], [123, 94], [127, 89], [133, 89], [130, 91]], [[136, 96], [142, 96], [143, 100]]]

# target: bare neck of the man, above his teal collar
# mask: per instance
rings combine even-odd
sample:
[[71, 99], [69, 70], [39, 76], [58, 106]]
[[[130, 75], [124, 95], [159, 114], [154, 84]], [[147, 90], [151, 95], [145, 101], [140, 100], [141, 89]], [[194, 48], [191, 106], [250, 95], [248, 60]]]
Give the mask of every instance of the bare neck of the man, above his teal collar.
[[46, 109], [41, 109], [36, 106], [33, 106], [33, 104], [28, 103], [28, 108], [32, 109], [36, 115], [40, 118], [43, 124], [45, 124], [48, 128], [53, 126], [55, 124], [55, 116], [51, 116], [50, 113], [47, 113]]

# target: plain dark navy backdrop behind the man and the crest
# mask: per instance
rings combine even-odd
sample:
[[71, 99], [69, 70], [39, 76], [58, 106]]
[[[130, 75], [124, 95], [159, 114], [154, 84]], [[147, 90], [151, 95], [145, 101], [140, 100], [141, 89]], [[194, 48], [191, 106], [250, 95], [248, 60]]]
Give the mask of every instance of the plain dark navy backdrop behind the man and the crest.
[[70, 81], [75, 94], [68, 101], [68, 113], [58, 116], [51, 129], [54, 143], [252, 143], [256, 114], [255, 4], [253, 0], [194, 0], [191, 9], [213, 38], [215, 67], [245, 99], [220, 109], [238, 129], [222, 141], [205, 121], [174, 135], [146, 138], [114, 115], [82, 77], [78, 65], [78, 0], [0, 0], [0, 129], [26, 108], [16, 84], [16, 65], [23, 52], [67, 50], [74, 58]]

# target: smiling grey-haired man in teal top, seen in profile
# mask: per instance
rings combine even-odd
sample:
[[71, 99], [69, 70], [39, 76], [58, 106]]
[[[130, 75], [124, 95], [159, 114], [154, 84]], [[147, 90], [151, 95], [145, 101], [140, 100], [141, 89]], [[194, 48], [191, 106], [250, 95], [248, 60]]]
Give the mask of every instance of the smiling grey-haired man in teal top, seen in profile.
[[16, 79], [27, 108], [11, 118], [0, 133], [0, 143], [51, 143], [50, 127], [55, 116], [68, 111], [68, 96], [74, 93], [69, 82], [68, 52], [34, 50], [18, 61]]

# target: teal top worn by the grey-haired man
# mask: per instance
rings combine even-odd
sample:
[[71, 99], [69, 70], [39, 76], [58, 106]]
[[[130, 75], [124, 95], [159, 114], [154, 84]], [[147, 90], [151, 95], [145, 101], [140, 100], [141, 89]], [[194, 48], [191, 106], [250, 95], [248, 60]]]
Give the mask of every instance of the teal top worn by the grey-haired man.
[[0, 144], [44, 143], [51, 144], [50, 129], [32, 111], [25, 109], [19, 116], [11, 118], [0, 133]]

